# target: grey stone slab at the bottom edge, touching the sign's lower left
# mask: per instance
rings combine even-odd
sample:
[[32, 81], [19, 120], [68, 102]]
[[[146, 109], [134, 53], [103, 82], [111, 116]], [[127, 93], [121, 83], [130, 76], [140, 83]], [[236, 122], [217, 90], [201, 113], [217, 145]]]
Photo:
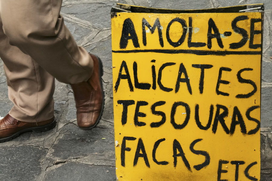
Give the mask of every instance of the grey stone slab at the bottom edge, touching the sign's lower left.
[[48, 169], [44, 181], [115, 180], [115, 167], [100, 167], [78, 163], [66, 163]]

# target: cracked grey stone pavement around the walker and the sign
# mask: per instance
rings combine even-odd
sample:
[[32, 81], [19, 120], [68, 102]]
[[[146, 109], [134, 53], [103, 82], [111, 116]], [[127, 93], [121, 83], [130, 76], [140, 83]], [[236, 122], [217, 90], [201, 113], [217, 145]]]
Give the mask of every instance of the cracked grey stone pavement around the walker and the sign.
[[[61, 14], [77, 43], [101, 57], [104, 64], [105, 110], [98, 126], [84, 131], [76, 126], [76, 109], [69, 85], [56, 82], [55, 129], [26, 132], [0, 144], [1, 181], [113, 181], [115, 176], [112, 101], [111, 19], [116, 3], [155, 8], [199, 9], [265, 3], [261, 94], [261, 180], [272, 180], [272, 1], [271, 0], [64, 0]], [[3, 62], [0, 62], [3, 66]], [[8, 99], [0, 70], [0, 116]], [[102, 139], [103, 138], [103, 139]], [[105, 139], [104, 139], [105, 138]]]

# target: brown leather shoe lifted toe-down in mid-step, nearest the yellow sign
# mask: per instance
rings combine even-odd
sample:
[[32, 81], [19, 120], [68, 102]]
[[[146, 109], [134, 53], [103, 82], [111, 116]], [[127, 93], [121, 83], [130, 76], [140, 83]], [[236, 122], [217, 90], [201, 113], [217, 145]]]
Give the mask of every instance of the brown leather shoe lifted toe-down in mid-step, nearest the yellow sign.
[[103, 65], [101, 60], [90, 54], [93, 59], [92, 77], [87, 82], [71, 84], [76, 101], [77, 124], [82, 129], [94, 128], [102, 116], [104, 92], [102, 87]]

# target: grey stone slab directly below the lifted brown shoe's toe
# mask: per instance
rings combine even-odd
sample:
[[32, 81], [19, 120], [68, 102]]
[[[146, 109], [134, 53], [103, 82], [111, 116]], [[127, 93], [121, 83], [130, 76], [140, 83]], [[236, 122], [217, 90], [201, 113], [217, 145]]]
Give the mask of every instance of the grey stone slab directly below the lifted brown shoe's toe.
[[[47, 157], [56, 161], [80, 158], [95, 153], [114, 151], [113, 125], [99, 122], [92, 130], [82, 130], [74, 124], [67, 124], [60, 131]], [[102, 139], [105, 138], [105, 139]]]

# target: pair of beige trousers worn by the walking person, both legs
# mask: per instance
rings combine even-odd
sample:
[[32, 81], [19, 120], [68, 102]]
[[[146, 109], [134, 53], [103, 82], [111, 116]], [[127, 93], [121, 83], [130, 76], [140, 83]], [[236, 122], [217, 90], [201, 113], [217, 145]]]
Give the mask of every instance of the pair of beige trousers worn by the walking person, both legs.
[[[61, 0], [0, 0], [6, 35], [0, 34], [0, 56], [5, 63], [9, 97], [15, 103], [10, 114], [18, 120], [40, 122], [53, 116], [53, 78], [47, 72], [69, 84], [87, 81], [92, 75], [91, 57], [76, 45], [59, 15], [61, 3]], [[9, 46], [8, 53], [2, 50], [6, 47], [2, 47], [2, 42], [9, 42], [21, 51]], [[36, 86], [32, 86], [30, 80], [35, 77]], [[34, 96], [36, 109], [30, 106]], [[46, 116], [45, 110], [51, 117]]]

